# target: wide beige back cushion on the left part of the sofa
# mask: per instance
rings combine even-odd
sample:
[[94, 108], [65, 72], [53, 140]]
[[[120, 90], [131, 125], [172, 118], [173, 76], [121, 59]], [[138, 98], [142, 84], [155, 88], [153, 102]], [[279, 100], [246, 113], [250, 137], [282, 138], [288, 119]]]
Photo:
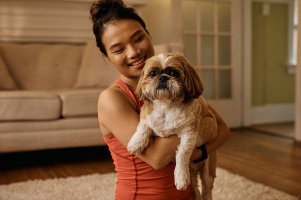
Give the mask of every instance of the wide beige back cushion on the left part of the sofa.
[[82, 45], [3, 43], [0, 50], [21, 89], [72, 88], [81, 62]]

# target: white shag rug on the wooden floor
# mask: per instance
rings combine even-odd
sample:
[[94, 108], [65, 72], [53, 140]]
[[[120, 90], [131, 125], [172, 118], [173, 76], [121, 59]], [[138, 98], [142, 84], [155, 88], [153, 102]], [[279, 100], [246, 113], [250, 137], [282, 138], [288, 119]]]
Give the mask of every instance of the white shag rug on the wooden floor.
[[[0, 185], [1, 200], [113, 200], [116, 173], [91, 174], [78, 177], [28, 180]], [[269, 186], [217, 168], [213, 198], [215, 200], [297, 200]], [[172, 199], [171, 199], [172, 200]]]

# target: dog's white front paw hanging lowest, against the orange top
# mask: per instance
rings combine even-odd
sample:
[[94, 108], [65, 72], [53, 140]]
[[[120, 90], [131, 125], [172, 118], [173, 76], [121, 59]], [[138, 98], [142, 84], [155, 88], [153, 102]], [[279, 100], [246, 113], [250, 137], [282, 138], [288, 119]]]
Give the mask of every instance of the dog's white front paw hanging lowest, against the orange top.
[[185, 190], [187, 189], [188, 185], [190, 184], [190, 174], [189, 169], [185, 170], [181, 167], [175, 168], [175, 184], [178, 190]]

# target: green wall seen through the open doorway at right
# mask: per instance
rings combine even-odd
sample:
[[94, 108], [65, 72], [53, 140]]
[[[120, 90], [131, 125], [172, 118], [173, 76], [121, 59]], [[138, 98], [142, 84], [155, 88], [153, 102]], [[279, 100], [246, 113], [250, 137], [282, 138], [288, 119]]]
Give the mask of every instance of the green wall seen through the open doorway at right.
[[288, 5], [252, 4], [252, 105], [293, 103], [294, 75], [286, 72], [288, 54]]

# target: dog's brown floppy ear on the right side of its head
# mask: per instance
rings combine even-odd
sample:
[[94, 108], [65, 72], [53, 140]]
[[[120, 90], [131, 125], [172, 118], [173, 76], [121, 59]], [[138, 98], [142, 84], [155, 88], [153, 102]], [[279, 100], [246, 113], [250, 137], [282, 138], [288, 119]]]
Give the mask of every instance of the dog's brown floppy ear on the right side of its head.
[[184, 66], [186, 67], [186, 70], [184, 70], [185, 100], [198, 98], [203, 93], [203, 82], [193, 64], [185, 57], [184, 59], [186, 62], [186, 66]]

